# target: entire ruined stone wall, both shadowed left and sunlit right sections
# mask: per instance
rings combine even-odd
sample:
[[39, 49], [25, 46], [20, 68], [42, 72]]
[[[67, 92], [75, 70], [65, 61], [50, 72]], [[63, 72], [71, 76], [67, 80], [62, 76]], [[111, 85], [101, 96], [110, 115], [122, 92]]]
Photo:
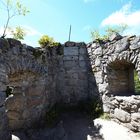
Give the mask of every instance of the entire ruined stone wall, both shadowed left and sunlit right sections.
[[[118, 97], [135, 94], [139, 48], [140, 37], [118, 34], [108, 41], [46, 48], [0, 39], [0, 139], [9, 139], [9, 129], [37, 127], [55, 103], [76, 105], [99, 95], [104, 112], [140, 131], [139, 97]], [[13, 91], [6, 97], [7, 86]]]

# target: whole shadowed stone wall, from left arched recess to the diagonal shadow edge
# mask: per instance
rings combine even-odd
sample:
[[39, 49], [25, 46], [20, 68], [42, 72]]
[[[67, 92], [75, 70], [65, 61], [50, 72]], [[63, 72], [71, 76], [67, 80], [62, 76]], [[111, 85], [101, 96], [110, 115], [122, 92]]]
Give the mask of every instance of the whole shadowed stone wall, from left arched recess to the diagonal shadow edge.
[[38, 127], [55, 103], [75, 105], [97, 95], [85, 43], [42, 49], [0, 39], [0, 53], [1, 139], [9, 139], [9, 130]]

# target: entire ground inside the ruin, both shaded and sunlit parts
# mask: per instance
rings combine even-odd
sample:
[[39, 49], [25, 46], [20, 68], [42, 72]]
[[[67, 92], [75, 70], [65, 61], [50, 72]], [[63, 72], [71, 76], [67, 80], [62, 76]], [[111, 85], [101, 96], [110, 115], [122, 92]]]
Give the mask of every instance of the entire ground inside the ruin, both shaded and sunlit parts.
[[140, 137], [113, 121], [93, 121], [83, 113], [69, 112], [62, 114], [54, 128], [15, 132], [12, 140], [140, 140]]

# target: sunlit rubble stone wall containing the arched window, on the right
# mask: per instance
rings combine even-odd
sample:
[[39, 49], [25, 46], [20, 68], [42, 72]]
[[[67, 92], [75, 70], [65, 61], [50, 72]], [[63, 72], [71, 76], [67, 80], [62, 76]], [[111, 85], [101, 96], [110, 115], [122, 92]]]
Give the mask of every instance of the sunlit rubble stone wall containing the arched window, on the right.
[[134, 70], [140, 77], [140, 37], [113, 34], [108, 41], [96, 40], [87, 47], [104, 112], [140, 131], [140, 99], [131, 97], [135, 94]]

